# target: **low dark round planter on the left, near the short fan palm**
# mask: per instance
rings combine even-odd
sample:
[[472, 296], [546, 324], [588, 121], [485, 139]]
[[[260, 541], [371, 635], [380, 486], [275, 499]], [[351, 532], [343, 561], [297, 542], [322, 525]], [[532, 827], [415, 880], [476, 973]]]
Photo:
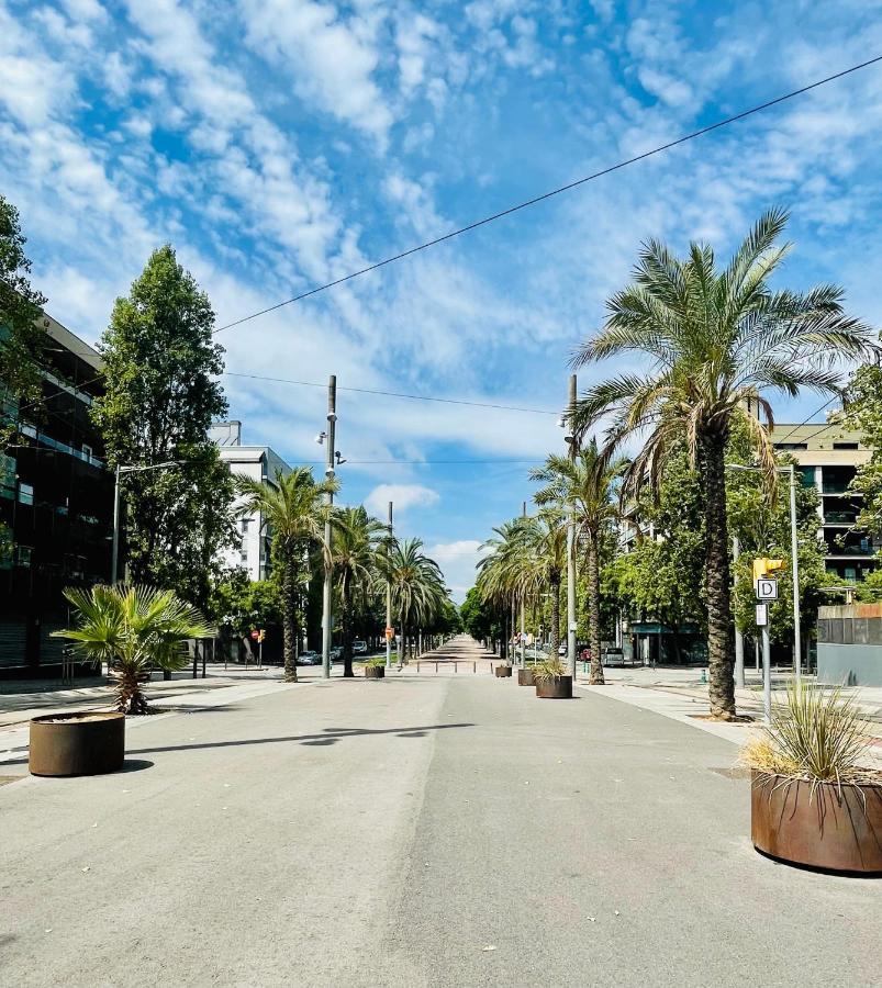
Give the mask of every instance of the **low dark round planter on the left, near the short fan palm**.
[[102, 775], [122, 768], [125, 715], [103, 710], [31, 720], [32, 775]]

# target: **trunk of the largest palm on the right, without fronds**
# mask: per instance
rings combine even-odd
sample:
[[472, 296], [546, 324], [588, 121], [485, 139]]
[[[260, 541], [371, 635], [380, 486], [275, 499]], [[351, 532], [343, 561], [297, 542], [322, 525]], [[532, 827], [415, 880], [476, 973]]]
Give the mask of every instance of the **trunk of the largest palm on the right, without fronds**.
[[704, 571], [707, 595], [707, 671], [711, 716], [735, 717], [735, 639], [732, 624], [729, 534], [726, 521], [725, 439], [705, 436], [702, 447], [704, 521], [707, 555]]

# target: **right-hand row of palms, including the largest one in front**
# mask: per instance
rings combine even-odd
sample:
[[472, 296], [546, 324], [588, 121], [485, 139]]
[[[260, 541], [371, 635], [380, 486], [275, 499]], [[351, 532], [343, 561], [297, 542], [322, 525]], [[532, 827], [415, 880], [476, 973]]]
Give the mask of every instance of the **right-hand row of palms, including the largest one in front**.
[[[666, 458], [685, 444], [704, 502], [710, 699], [719, 719], [736, 716], [725, 474], [733, 428], [739, 422], [747, 428], [773, 498], [769, 396], [795, 396], [802, 388], [841, 395], [844, 366], [880, 356], [875, 332], [846, 315], [840, 288], [772, 288], [791, 250], [781, 243], [786, 222], [783, 210], [763, 214], [722, 269], [704, 244], [692, 243], [685, 258], [657, 240], [644, 245], [633, 282], [607, 301], [604, 326], [572, 360], [583, 367], [612, 358], [624, 370], [591, 385], [567, 409], [574, 425], [572, 456], [550, 457], [534, 472], [546, 484], [536, 497], [538, 515], [496, 529], [479, 574], [482, 594], [493, 600], [525, 600], [542, 584], [551, 594], [556, 644], [567, 563], [561, 531], [573, 510], [587, 564], [592, 676], [602, 681], [596, 547], [612, 486], [621, 478], [625, 502], [643, 489], [657, 491]], [[585, 441], [601, 425], [602, 446]], [[635, 441], [641, 448], [625, 463], [621, 450]]]

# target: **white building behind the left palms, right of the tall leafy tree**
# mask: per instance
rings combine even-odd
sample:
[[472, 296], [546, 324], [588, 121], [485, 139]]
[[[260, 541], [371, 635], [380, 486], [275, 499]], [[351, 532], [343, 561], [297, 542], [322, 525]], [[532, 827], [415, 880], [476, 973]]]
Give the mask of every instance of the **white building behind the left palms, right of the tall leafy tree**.
[[[270, 447], [243, 446], [241, 422], [215, 423], [209, 435], [220, 447], [221, 459], [233, 474], [242, 474], [268, 486], [275, 486], [277, 474], [287, 476], [291, 472], [288, 463]], [[241, 508], [242, 505], [243, 498], [239, 498], [237, 507]], [[237, 524], [241, 546], [226, 552], [224, 564], [242, 568], [247, 572], [249, 580], [266, 580], [269, 574], [269, 547], [272, 538], [272, 532], [266, 526], [266, 519], [260, 512], [253, 512], [241, 515]]]

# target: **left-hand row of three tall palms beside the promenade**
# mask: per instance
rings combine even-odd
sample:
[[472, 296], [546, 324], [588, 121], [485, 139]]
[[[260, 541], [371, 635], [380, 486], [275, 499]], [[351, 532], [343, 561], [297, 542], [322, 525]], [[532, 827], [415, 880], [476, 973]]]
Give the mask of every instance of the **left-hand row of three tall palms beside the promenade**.
[[[362, 506], [333, 507], [336, 480], [316, 481], [309, 467], [279, 472], [275, 484], [239, 479], [246, 509], [260, 512], [271, 536], [272, 564], [281, 588], [284, 676], [297, 682], [298, 603], [316, 570], [332, 574], [338, 597], [344, 675], [353, 673], [353, 618], [357, 608], [391, 593], [402, 648], [415, 628], [425, 628], [449, 600], [438, 564], [420, 539], [397, 539]], [[325, 538], [331, 523], [332, 538]]]

